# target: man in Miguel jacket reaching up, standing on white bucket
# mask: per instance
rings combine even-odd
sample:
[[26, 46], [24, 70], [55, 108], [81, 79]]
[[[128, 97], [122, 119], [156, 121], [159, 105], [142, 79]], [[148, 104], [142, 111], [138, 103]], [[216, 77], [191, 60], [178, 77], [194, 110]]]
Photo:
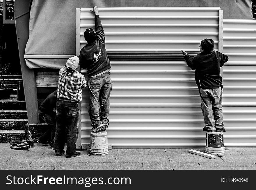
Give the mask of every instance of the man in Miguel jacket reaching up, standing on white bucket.
[[90, 104], [88, 112], [92, 122], [92, 132], [104, 131], [109, 126], [109, 97], [112, 82], [110, 61], [105, 49], [105, 34], [99, 18], [99, 8], [93, 7], [95, 30], [87, 28], [84, 39], [87, 41], [79, 55], [81, 68], [87, 69]]

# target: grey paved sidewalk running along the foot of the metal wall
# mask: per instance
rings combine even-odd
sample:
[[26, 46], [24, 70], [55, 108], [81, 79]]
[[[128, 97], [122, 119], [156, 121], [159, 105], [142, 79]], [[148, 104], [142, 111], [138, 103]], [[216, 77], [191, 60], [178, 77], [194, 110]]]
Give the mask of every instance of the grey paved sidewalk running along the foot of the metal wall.
[[89, 156], [89, 150], [81, 155], [56, 157], [50, 146], [35, 144], [29, 151], [10, 149], [9, 143], [0, 143], [0, 169], [228, 169], [255, 170], [256, 148], [228, 148], [225, 155], [215, 159], [188, 152], [193, 149], [112, 149], [108, 155]]

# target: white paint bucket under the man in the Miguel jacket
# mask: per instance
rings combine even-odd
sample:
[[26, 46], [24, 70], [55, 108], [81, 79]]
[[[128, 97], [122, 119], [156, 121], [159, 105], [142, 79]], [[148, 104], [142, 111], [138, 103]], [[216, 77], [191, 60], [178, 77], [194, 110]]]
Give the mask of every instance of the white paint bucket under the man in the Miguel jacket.
[[91, 132], [90, 154], [106, 155], [109, 153], [107, 131]]

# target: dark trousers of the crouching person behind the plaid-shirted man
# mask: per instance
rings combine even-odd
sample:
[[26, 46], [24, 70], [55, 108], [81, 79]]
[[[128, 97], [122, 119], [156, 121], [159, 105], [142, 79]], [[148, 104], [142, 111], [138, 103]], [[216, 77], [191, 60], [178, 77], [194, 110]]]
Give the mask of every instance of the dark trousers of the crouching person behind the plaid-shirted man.
[[47, 142], [48, 140], [50, 140], [50, 144], [53, 145], [54, 142], [54, 136], [55, 136], [55, 128], [56, 128], [56, 118], [53, 115], [49, 115], [47, 113], [45, 113], [42, 116], [42, 119], [45, 121], [45, 123], [47, 123], [47, 131], [42, 134], [38, 140], [42, 141], [42, 142]]

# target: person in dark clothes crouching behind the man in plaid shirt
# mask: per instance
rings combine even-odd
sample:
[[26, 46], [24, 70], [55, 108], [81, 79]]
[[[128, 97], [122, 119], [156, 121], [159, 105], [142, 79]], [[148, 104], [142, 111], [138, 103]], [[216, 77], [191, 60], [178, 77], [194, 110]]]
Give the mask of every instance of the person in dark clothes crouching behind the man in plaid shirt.
[[50, 144], [53, 149], [56, 128], [56, 102], [57, 90], [49, 94], [38, 108], [39, 115], [47, 123], [49, 129], [37, 139], [37, 142], [43, 145]]

